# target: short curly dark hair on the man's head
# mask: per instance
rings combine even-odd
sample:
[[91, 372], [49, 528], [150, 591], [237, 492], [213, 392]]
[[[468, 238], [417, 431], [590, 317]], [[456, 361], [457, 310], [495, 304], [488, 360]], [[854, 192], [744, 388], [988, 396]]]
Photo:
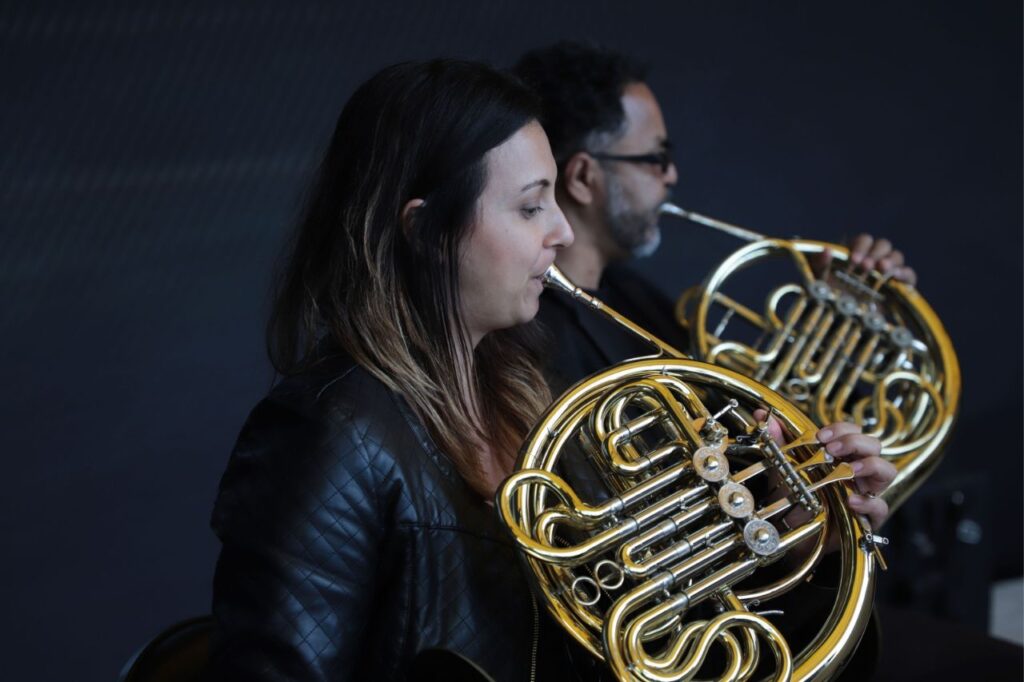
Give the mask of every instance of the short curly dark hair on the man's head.
[[647, 77], [647, 67], [625, 54], [570, 41], [526, 52], [512, 71], [543, 100], [542, 124], [559, 169], [594, 136], [621, 132], [623, 91]]

